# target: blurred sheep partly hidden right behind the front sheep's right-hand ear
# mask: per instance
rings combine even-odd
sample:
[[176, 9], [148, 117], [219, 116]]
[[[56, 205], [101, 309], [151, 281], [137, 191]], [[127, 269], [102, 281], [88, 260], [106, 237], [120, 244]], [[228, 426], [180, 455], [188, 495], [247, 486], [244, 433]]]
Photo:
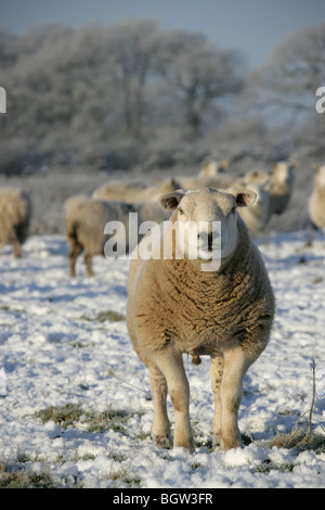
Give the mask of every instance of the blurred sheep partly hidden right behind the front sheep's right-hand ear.
[[252, 238], [256, 238], [268, 225], [271, 219], [270, 214], [270, 200], [271, 195], [268, 191], [268, 180], [265, 184], [259, 180], [246, 181], [238, 179], [233, 183], [233, 187], [247, 188], [256, 193], [256, 201], [250, 207], [242, 207], [239, 215], [250, 230]]

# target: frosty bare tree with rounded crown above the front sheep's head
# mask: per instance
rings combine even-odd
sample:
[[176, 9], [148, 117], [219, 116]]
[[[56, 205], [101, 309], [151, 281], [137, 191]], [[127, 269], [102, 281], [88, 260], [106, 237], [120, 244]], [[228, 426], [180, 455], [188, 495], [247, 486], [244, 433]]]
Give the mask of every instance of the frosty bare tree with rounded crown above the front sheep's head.
[[244, 58], [237, 50], [221, 50], [202, 34], [168, 31], [161, 35], [159, 72], [181, 103], [188, 132], [197, 136], [213, 101], [242, 89]]

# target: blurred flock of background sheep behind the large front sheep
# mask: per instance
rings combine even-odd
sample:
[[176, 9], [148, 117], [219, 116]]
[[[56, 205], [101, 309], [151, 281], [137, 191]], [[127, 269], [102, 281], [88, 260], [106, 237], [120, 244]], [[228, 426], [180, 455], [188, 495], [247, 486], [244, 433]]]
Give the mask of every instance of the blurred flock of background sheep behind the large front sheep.
[[[289, 204], [294, 188], [294, 164], [277, 163], [271, 171], [249, 171], [239, 178], [230, 178], [226, 164], [210, 162], [204, 165], [197, 177], [181, 177], [157, 182], [123, 183], [108, 181], [98, 188], [91, 197], [73, 196], [65, 202], [66, 237], [69, 246], [70, 275], [75, 276], [77, 257], [83, 259], [89, 276], [93, 275], [91, 259], [104, 253], [107, 235], [104, 227], [107, 221], [121, 221], [128, 233], [129, 213], [138, 213], [139, 224], [161, 222], [169, 217], [159, 204], [159, 196], [177, 189], [200, 188], [225, 189], [247, 188], [255, 191], [257, 199], [252, 206], [240, 209], [239, 214], [248, 226], [251, 235], [258, 235], [270, 221], [272, 215], [283, 214]], [[309, 201], [311, 222], [325, 231], [325, 166], [316, 169], [314, 189]], [[18, 189], [0, 189], [0, 245], [12, 244], [13, 254], [20, 257], [22, 243], [26, 240], [31, 215], [31, 201], [28, 194]], [[127, 241], [129, 237], [127, 235]], [[140, 240], [140, 238], [139, 238]], [[127, 251], [134, 246], [126, 246]]]

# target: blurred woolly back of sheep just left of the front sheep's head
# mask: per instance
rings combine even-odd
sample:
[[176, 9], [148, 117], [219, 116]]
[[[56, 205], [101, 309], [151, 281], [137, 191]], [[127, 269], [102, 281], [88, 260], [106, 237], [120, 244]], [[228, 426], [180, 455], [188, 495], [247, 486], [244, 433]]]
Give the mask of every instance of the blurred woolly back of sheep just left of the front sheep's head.
[[92, 193], [93, 199], [101, 200], [123, 200], [125, 202], [143, 202], [158, 197], [161, 193], [167, 193], [178, 189], [180, 184], [174, 179], [157, 182], [157, 186], [147, 186], [144, 182], [122, 182], [109, 181]]

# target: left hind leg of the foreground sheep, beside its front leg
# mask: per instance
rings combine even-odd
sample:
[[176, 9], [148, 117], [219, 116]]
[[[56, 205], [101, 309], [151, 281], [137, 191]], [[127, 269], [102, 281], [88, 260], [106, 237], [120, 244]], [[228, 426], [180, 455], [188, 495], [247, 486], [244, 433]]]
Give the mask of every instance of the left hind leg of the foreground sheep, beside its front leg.
[[167, 415], [167, 382], [165, 375], [155, 365], [151, 364], [151, 387], [154, 398], [154, 421], [152, 437], [164, 448], [171, 447], [170, 424]]

